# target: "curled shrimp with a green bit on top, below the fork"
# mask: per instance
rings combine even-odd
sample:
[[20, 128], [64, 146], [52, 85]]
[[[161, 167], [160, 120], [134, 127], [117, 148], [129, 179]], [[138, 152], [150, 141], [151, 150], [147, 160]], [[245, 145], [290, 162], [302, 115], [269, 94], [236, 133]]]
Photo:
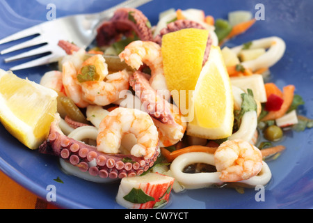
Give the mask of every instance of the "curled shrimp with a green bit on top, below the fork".
[[129, 73], [121, 70], [109, 75], [104, 57], [97, 54], [86, 59], [78, 72], [72, 61], [65, 61], [63, 85], [77, 106], [104, 106], [118, 100], [120, 91], [129, 89]]

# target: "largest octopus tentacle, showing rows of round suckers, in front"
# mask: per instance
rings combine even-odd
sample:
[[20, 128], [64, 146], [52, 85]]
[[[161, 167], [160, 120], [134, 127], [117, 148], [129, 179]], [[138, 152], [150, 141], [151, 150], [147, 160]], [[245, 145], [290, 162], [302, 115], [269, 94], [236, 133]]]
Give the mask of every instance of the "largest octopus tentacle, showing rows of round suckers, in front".
[[130, 154], [107, 154], [97, 151], [96, 146], [71, 139], [51, 123], [48, 139], [38, 149], [39, 153], [56, 155], [70, 164], [101, 178], [123, 178], [138, 176], [147, 171], [159, 155], [159, 147], [149, 159]]

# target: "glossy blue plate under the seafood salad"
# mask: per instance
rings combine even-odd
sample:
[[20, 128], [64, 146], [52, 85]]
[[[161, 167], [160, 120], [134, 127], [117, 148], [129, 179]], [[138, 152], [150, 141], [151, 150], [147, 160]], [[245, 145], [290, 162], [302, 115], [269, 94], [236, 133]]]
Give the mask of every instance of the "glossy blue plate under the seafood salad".
[[[45, 22], [47, 4], [56, 5], [56, 16], [75, 13], [95, 13], [109, 8], [120, 1], [116, 0], [20, 0], [0, 1], [0, 38], [29, 26]], [[271, 82], [282, 87], [296, 86], [296, 93], [303, 97], [305, 105], [300, 114], [313, 118], [313, 1], [235, 1], [235, 0], [154, 0], [139, 9], [156, 24], [159, 13], [168, 8], [201, 8], [207, 15], [227, 18], [233, 10], [249, 10], [257, 13], [255, 6], [263, 3], [265, 20], [259, 20], [245, 34], [237, 36], [229, 44], [239, 45], [249, 40], [268, 36], [280, 36], [287, 44], [283, 58], [271, 68]], [[20, 41], [15, 41], [20, 43]], [[15, 43], [0, 45], [0, 50]], [[8, 70], [17, 64], [3, 63], [3, 59], [16, 53], [0, 56], [0, 68]], [[38, 82], [51, 66], [41, 66], [16, 71], [19, 77], [28, 77]], [[26, 108], [25, 108], [26, 109]], [[62, 208], [122, 208], [115, 203], [118, 183], [100, 185], [67, 176], [58, 167], [58, 159], [31, 151], [12, 137], [0, 125], [0, 168], [10, 178], [31, 192], [46, 199], [49, 187], [56, 186], [55, 204]], [[268, 162], [273, 178], [266, 186], [265, 201], [256, 201], [257, 191], [245, 190], [243, 194], [230, 188], [205, 188], [188, 190], [180, 194], [172, 193], [166, 208], [312, 208], [313, 201], [313, 131], [287, 131], [282, 144], [286, 151], [277, 160]], [[54, 179], [61, 178], [63, 183]], [[52, 201], [51, 201], [52, 202]]]

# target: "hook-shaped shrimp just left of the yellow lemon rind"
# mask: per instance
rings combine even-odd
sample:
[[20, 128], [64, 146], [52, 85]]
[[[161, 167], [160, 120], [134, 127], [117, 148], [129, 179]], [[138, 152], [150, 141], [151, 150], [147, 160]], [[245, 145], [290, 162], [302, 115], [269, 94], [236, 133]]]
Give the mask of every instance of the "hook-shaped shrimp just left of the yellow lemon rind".
[[149, 82], [152, 89], [156, 90], [165, 100], [170, 98], [170, 91], [168, 91], [163, 71], [163, 59], [160, 45], [152, 41], [136, 40], [129, 43], [119, 56], [121, 61], [125, 61], [131, 68], [136, 70], [138, 70], [143, 63], [149, 66], [151, 70]]

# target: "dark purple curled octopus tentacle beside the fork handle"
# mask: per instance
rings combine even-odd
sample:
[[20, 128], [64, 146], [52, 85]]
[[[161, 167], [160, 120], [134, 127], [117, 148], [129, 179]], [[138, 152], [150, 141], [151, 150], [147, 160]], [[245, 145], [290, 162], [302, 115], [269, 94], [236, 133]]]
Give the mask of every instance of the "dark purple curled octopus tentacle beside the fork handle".
[[141, 10], [136, 8], [119, 8], [111, 20], [104, 22], [97, 29], [97, 45], [111, 45], [120, 38], [121, 34], [130, 36], [132, 31], [139, 39], [150, 41], [153, 39], [151, 25]]

